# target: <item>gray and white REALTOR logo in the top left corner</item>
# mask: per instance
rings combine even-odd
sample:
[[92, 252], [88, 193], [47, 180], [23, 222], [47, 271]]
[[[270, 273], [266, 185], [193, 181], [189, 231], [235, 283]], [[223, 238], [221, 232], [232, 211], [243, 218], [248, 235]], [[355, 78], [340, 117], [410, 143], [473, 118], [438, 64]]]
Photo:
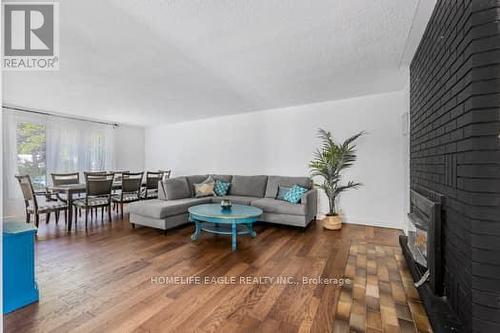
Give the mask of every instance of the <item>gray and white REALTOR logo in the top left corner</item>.
[[3, 6], [3, 69], [58, 70], [59, 4], [7, 2]]

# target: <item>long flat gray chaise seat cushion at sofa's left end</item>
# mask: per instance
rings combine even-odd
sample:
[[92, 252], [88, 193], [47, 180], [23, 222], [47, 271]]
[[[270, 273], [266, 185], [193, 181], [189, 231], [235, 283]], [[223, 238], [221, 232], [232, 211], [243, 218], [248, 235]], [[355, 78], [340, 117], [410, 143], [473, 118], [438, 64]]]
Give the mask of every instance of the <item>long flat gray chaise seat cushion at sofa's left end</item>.
[[169, 216], [187, 213], [189, 207], [209, 203], [210, 198], [184, 198], [177, 200], [144, 200], [129, 204], [129, 211], [133, 214], [164, 219]]

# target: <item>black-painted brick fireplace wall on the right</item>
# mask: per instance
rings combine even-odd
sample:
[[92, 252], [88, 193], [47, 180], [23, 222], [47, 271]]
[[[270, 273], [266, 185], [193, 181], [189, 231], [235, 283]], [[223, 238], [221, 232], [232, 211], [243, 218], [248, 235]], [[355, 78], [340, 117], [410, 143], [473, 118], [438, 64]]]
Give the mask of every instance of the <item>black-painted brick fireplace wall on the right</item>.
[[446, 196], [445, 294], [500, 332], [500, 0], [438, 0], [410, 66], [410, 183]]

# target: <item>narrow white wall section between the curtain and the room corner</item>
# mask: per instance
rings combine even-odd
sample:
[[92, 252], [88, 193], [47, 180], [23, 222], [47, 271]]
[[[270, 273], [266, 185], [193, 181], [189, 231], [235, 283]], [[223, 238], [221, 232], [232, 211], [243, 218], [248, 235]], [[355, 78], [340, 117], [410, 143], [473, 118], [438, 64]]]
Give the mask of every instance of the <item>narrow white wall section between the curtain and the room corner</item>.
[[144, 170], [144, 128], [120, 125], [114, 134], [114, 169]]

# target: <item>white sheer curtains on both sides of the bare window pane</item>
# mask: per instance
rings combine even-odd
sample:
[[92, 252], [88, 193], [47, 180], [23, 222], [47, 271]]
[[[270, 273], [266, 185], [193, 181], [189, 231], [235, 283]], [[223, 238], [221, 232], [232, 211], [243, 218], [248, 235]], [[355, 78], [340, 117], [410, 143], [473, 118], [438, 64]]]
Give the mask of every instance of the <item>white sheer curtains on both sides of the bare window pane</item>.
[[17, 128], [20, 123], [45, 126], [47, 185], [51, 173], [112, 170], [114, 127], [83, 120], [2, 109], [3, 199], [8, 215], [23, 212], [18, 170]]

